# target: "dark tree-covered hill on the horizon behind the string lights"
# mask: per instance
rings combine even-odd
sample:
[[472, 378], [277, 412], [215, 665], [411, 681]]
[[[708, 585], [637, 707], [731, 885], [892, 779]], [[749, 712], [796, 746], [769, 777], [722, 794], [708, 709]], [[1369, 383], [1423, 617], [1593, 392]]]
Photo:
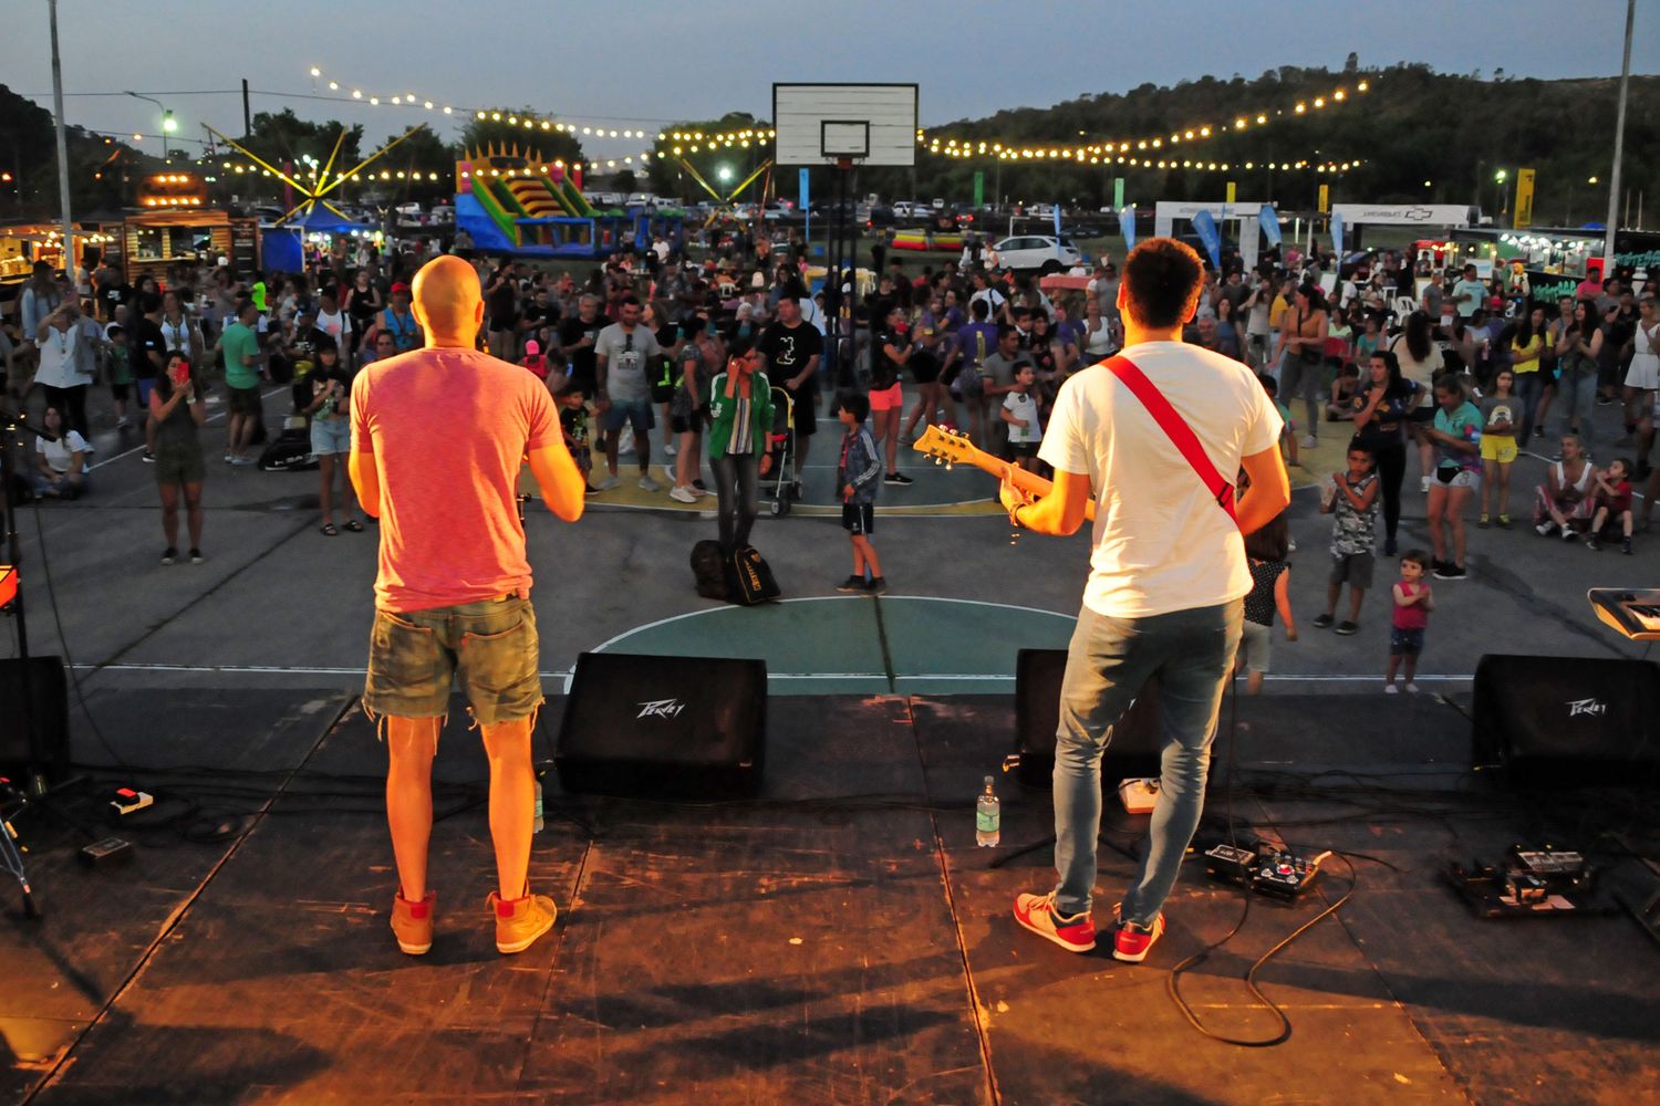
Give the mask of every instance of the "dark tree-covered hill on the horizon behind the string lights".
[[[1360, 81], [1368, 91], [1356, 93]], [[1341, 103], [1311, 104], [1345, 88]], [[1514, 189], [1516, 171], [1537, 171], [1534, 222], [1565, 224], [1600, 221], [1607, 211], [1607, 181], [1612, 164], [1615, 101], [1618, 80], [1519, 78], [1502, 70], [1492, 75], [1436, 73], [1428, 65], [1401, 63], [1384, 70], [1361, 70], [1356, 58], [1343, 71], [1280, 66], [1255, 80], [1204, 76], [1174, 86], [1142, 85], [1127, 93], [1086, 95], [1051, 108], [1011, 108], [983, 119], [959, 119], [928, 128], [928, 138], [1003, 146], [1047, 146], [1067, 149], [1107, 139], [1157, 136], [1210, 124], [1215, 138], [1165, 146], [1174, 159], [1202, 159], [1230, 169], [1157, 169], [1144, 166], [1079, 164], [1067, 159], [1003, 161], [993, 154], [946, 158], [920, 149], [915, 169], [860, 169], [857, 192], [891, 197], [946, 197], [968, 201], [974, 172], [984, 172], [984, 194], [1019, 202], [1066, 202], [1099, 207], [1112, 202], [1112, 181], [1125, 179], [1125, 201], [1147, 204], [1155, 199], [1220, 197], [1227, 181], [1235, 181], [1242, 199], [1273, 201], [1283, 209], [1315, 206], [1318, 186], [1331, 186], [1333, 201], [1358, 202], [1452, 202], [1499, 211], [1501, 187], [1494, 174], [1504, 169], [1506, 189]], [[923, 88], [926, 101], [928, 90]], [[1298, 103], [1310, 108], [1296, 114]], [[1252, 126], [1235, 131], [1233, 121], [1250, 114]], [[1255, 126], [1255, 116], [1270, 116]], [[1278, 114], [1273, 114], [1278, 113]], [[765, 126], [750, 116], [687, 121], [664, 128], [666, 134], [696, 129], [706, 134]], [[687, 194], [679, 187], [672, 154], [682, 148], [701, 174], [714, 179], [717, 164], [729, 164], [734, 177], [765, 158], [764, 148], [702, 148], [662, 139], [654, 149], [652, 187]], [[1130, 156], [1135, 156], [1134, 151]], [[1145, 156], [1145, 151], [1140, 154]], [[1268, 169], [1267, 164], [1306, 161], [1360, 161], [1341, 174], [1313, 169]], [[1245, 169], [1250, 163], [1253, 167]], [[795, 191], [792, 179], [782, 194]], [[1625, 184], [1635, 194], [1660, 179], [1660, 76], [1632, 76], [1625, 118]], [[1590, 184], [1597, 177], [1597, 184]], [[999, 187], [1001, 184], [1001, 187]], [[828, 196], [830, 171], [813, 171], [813, 194]], [[1514, 192], [1512, 192], [1514, 194]], [[1645, 197], [1660, 204], [1660, 196]]]

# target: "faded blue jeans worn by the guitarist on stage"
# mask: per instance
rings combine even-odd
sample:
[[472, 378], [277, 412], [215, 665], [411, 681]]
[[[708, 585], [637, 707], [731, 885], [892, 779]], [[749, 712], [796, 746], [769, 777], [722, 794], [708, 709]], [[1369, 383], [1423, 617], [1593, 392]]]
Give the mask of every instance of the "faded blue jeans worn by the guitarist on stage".
[[1124, 895], [1120, 919], [1150, 929], [1175, 885], [1205, 808], [1205, 771], [1222, 690], [1243, 632], [1242, 602], [1145, 618], [1109, 618], [1084, 607], [1061, 682], [1054, 751], [1056, 909], [1089, 910], [1101, 832], [1101, 753], [1149, 677], [1159, 677], [1164, 730], [1159, 804], [1150, 847]]

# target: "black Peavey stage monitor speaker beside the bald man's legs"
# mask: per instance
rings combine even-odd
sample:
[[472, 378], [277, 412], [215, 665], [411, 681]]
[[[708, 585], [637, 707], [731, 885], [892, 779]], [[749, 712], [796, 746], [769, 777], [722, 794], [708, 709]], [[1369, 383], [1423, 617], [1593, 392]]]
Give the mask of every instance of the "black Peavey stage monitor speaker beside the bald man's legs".
[[730, 798], [765, 748], [767, 662], [583, 653], [554, 761], [566, 791]]

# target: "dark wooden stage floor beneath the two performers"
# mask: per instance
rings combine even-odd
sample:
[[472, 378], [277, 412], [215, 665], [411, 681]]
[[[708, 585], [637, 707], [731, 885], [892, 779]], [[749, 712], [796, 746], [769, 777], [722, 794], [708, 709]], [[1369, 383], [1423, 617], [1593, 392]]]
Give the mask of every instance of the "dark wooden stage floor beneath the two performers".
[[[387, 929], [383, 754], [337, 691], [93, 695], [123, 740], [76, 758], [156, 771], [131, 864], [75, 861], [91, 789], [20, 822], [40, 920], [0, 884], [0, 1103], [1633, 1103], [1660, 1088], [1660, 950], [1622, 914], [1477, 920], [1441, 882], [1512, 841], [1655, 852], [1652, 793], [1516, 796], [1467, 771], [1469, 725], [1423, 695], [1240, 700], [1212, 784], [1240, 826], [1333, 861], [1311, 894], [1252, 897], [1189, 862], [1145, 965], [1069, 955], [1009, 904], [1052, 882], [1044, 793], [1004, 778], [1003, 847], [973, 796], [1013, 700], [774, 698], [762, 794], [724, 804], [563, 796], [531, 882], [559, 924], [500, 957], [483, 756], [452, 718], [430, 955]], [[538, 759], [558, 726], [549, 701]], [[1145, 819], [1104, 826], [1111, 919]], [[994, 862], [999, 862], [994, 866]], [[1648, 1088], [1643, 1091], [1642, 1088]]]

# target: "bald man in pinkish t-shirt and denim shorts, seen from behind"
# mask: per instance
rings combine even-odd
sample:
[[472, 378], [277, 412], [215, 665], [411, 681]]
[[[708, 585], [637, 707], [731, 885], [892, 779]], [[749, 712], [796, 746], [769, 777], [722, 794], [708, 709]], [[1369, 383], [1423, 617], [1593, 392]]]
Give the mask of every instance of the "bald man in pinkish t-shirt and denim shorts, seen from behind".
[[485, 312], [478, 274], [458, 257], [428, 262], [415, 275], [413, 308], [425, 348], [375, 361], [352, 381], [352, 483], [380, 519], [364, 710], [387, 721], [392, 930], [410, 955], [432, 948], [432, 761], [460, 677], [490, 758], [496, 948], [513, 953], [558, 914], [528, 884], [530, 735], [543, 696], [518, 474], [530, 461], [566, 522], [583, 514], [584, 481], [546, 386], [475, 348]]

